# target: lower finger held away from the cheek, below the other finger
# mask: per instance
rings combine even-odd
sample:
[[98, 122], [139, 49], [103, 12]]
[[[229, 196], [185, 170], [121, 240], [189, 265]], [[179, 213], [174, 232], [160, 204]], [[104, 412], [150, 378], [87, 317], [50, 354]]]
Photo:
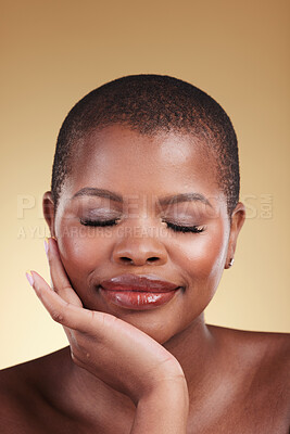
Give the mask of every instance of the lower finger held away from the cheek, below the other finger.
[[91, 311], [64, 301], [41, 276], [36, 271], [30, 271], [30, 273], [33, 276], [31, 286], [54, 321], [63, 327], [88, 334], [96, 334], [98, 329], [102, 330], [103, 315], [106, 314]]

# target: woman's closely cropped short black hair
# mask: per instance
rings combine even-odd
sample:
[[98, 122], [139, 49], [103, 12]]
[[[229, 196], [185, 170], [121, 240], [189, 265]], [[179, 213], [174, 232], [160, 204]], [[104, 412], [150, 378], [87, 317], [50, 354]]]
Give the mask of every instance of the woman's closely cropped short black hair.
[[[217, 181], [229, 216], [239, 201], [237, 136], [224, 108], [207, 93], [167, 75], [129, 75], [106, 82], [77, 102], [59, 132], [51, 191], [55, 209], [74, 146], [97, 128], [121, 124], [141, 135], [160, 131], [193, 133], [215, 153]], [[206, 174], [205, 174], [206, 175]]]

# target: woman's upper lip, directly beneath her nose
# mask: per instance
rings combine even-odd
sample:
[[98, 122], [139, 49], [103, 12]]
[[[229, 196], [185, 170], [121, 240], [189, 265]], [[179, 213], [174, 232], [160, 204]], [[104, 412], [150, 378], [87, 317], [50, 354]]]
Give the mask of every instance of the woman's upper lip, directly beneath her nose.
[[109, 291], [168, 292], [179, 288], [155, 275], [121, 275], [100, 283]]

